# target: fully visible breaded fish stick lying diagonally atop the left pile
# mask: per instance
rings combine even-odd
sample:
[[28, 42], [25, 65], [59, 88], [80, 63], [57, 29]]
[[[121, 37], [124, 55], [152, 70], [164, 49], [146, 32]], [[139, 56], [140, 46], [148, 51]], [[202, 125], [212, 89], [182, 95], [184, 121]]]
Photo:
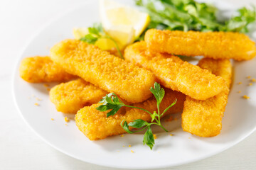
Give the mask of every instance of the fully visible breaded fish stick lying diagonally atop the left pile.
[[137, 103], [151, 96], [154, 74], [110, 55], [80, 40], [64, 40], [50, 50], [51, 59], [66, 72], [75, 74], [101, 89], [114, 92], [125, 101]]

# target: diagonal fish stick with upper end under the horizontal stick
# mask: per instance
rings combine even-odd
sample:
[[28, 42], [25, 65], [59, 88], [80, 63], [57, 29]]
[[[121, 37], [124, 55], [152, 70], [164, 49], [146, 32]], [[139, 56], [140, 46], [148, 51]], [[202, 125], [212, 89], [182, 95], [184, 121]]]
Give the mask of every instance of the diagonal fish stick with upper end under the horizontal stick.
[[146, 42], [129, 45], [124, 51], [124, 58], [149, 69], [166, 88], [181, 91], [198, 100], [213, 97], [225, 88], [225, 80], [206, 69], [174, 55], [148, 52]]

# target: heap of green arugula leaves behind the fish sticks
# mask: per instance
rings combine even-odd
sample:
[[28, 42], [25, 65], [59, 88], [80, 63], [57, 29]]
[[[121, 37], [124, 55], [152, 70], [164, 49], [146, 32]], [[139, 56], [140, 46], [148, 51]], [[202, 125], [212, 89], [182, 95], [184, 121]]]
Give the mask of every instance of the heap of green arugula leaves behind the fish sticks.
[[[149, 13], [151, 22], [146, 28], [168, 30], [198, 31], [235, 31], [248, 32], [250, 23], [256, 21], [255, 7], [240, 8], [238, 15], [227, 21], [218, 21], [218, 8], [211, 4], [199, 3], [194, 0], [135, 0]], [[144, 33], [137, 38], [143, 40]]]

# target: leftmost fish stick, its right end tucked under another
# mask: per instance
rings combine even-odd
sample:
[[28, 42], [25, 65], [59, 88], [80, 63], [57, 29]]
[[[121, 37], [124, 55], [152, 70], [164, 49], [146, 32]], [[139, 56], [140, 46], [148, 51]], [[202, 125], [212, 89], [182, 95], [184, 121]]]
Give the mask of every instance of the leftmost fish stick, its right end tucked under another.
[[42, 83], [53, 81], [69, 81], [75, 76], [68, 74], [50, 57], [27, 57], [21, 61], [19, 67], [20, 76], [30, 83]]

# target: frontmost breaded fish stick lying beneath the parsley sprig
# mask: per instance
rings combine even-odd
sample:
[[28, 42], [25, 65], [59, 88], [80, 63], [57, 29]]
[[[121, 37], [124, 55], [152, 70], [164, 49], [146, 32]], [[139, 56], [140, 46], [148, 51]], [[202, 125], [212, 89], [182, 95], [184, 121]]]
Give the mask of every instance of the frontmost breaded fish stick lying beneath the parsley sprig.
[[[186, 98], [185, 95], [178, 91], [171, 91], [171, 89], [165, 90], [166, 95], [161, 102], [161, 112], [171, 105], [171, 103], [175, 101], [175, 98], [177, 98], [177, 103], [171, 107], [165, 115], [181, 112], [183, 101]], [[90, 140], [102, 140], [108, 136], [125, 133], [126, 131], [120, 125], [124, 119], [127, 120], [127, 123], [136, 119], [142, 119], [148, 122], [151, 121], [149, 113], [137, 108], [121, 108], [118, 113], [107, 118], [107, 111], [97, 111], [96, 108], [98, 106], [100, 106], [100, 103], [84, 107], [75, 115], [76, 125]], [[157, 111], [156, 99], [154, 97], [142, 103], [136, 103], [134, 106], [144, 108], [151, 113]]]

